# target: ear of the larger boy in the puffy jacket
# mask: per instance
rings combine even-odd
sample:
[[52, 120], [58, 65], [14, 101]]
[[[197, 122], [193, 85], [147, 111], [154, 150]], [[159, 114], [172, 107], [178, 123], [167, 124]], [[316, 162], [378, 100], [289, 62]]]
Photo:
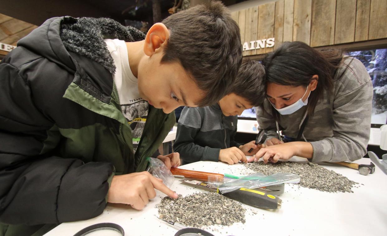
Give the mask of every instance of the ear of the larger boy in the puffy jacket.
[[161, 44], [168, 41], [169, 36], [170, 33], [163, 23], [152, 25], [145, 37], [144, 53], [147, 56], [152, 56]]

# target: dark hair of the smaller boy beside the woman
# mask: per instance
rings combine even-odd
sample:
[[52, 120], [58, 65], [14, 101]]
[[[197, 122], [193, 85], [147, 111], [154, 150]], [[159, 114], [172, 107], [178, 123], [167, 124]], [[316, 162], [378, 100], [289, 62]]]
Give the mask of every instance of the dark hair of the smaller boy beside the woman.
[[231, 93], [247, 99], [255, 107], [263, 104], [266, 97], [264, 66], [258, 61], [244, 59]]

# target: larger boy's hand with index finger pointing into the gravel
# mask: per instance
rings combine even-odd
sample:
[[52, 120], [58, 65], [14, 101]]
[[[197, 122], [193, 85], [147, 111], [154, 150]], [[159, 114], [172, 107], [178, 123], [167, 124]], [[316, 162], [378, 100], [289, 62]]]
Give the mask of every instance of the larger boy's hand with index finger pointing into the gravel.
[[171, 198], [178, 198], [175, 192], [164, 185], [163, 180], [143, 171], [114, 176], [108, 192], [108, 202], [130, 204], [134, 209], [141, 210], [149, 199], [156, 197], [154, 188]]

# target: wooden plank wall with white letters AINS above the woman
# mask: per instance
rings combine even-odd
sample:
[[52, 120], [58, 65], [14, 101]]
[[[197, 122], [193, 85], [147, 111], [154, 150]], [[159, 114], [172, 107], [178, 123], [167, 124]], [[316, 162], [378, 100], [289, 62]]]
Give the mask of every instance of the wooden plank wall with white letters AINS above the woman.
[[242, 44], [275, 38], [274, 48], [247, 50], [243, 56], [267, 53], [285, 41], [319, 47], [387, 38], [387, 0], [279, 0], [232, 16]]

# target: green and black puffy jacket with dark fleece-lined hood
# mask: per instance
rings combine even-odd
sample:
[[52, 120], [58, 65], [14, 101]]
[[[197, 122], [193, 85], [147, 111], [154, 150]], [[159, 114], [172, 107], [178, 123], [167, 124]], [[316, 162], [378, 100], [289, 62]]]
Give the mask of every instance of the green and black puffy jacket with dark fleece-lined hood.
[[134, 155], [104, 38], [144, 34], [111, 19], [52, 18], [0, 63], [0, 222], [98, 216], [113, 175], [146, 170], [175, 124], [149, 106]]

